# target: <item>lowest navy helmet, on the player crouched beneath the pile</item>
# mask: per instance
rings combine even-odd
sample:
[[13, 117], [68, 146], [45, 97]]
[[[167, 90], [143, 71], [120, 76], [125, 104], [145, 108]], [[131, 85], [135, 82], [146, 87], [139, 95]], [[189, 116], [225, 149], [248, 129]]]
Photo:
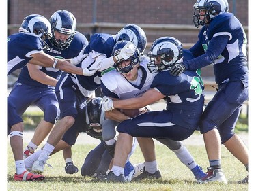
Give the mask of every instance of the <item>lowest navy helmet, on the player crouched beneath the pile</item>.
[[85, 122], [87, 127], [96, 133], [102, 132], [102, 124], [105, 120], [101, 97], [89, 100], [85, 106]]

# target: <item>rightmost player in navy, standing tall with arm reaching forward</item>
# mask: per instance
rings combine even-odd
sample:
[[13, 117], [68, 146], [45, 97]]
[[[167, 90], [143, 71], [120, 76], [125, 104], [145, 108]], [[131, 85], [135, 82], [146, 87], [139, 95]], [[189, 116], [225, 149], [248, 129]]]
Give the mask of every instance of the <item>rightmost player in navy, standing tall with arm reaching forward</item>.
[[[218, 91], [205, 108], [200, 124], [210, 162], [208, 175], [202, 181], [227, 184], [221, 169], [221, 144], [248, 171], [248, 148], [234, 133], [242, 104], [248, 99], [246, 34], [239, 20], [228, 12], [225, 0], [198, 0], [194, 9], [195, 26], [203, 25], [199, 40], [189, 49], [197, 58], [176, 64], [171, 74], [180, 75], [213, 63]], [[248, 183], [248, 176], [240, 182]]]

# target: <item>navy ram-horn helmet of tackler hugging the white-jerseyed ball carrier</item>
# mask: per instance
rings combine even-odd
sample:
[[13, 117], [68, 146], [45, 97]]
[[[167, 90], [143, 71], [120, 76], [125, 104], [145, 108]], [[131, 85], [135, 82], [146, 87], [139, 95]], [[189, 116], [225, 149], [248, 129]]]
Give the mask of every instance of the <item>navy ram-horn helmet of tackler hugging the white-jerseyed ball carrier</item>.
[[182, 43], [173, 37], [160, 37], [150, 47], [150, 62], [147, 68], [151, 73], [168, 69], [183, 60]]

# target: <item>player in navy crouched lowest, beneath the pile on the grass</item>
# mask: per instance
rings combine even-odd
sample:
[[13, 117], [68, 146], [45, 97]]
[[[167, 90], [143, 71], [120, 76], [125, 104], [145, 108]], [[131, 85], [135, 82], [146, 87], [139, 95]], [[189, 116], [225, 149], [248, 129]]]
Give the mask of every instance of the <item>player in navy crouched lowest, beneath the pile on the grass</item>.
[[[109, 154], [108, 150], [104, 146], [104, 141], [102, 141], [102, 124], [105, 120], [104, 110], [102, 109], [102, 98], [95, 97], [89, 101], [84, 97], [84, 99], [77, 100], [76, 109], [78, 111], [76, 121], [74, 124], [66, 131], [63, 135], [61, 141], [57, 143], [55, 149], [51, 154], [55, 154], [60, 150], [63, 150], [63, 157], [66, 161], [65, 171], [68, 174], [74, 174], [79, 171], [79, 169], [74, 165], [72, 161], [72, 150], [71, 147], [76, 143], [76, 139], [81, 132], [87, 133], [87, 135], [100, 140], [100, 144], [91, 150], [87, 154], [84, 164], [81, 167], [81, 175], [99, 177], [106, 173], [109, 169], [109, 164], [112, 160], [112, 156]], [[25, 167], [31, 170], [33, 162], [38, 159], [42, 150], [36, 151], [31, 156], [27, 157], [25, 162]], [[130, 167], [130, 162], [126, 164], [126, 171]], [[137, 169], [134, 175], [143, 170], [141, 165], [136, 165]], [[126, 173], [128, 174], [128, 173]]]

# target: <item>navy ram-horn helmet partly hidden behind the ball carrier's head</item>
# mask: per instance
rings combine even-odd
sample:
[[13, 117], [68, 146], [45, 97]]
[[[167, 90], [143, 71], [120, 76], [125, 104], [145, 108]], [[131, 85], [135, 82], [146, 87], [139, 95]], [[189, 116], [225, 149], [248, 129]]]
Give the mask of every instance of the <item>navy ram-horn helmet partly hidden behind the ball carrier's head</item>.
[[143, 29], [136, 24], [127, 24], [116, 35], [116, 41], [131, 41], [141, 54], [147, 46], [147, 37]]

